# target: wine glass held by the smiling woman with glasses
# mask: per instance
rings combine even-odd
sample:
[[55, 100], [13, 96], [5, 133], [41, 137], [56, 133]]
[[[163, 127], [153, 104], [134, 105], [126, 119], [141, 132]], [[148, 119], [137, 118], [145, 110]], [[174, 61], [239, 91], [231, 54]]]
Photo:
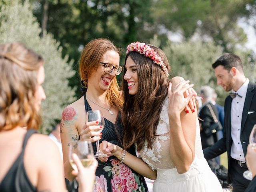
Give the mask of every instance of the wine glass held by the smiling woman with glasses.
[[[98, 121], [99, 122], [98, 125], [102, 126], [102, 129], [98, 130], [98, 132], [102, 132], [105, 122], [104, 122], [104, 116], [102, 115], [102, 112], [100, 110], [92, 110], [86, 113], [86, 122], [91, 122], [91, 121]], [[99, 137], [99, 136], [94, 136], [94, 137]], [[103, 154], [102, 152], [100, 152], [99, 140], [96, 141], [96, 147], [97, 147], [97, 152], [94, 155], [94, 157], [107, 156], [106, 154]]]

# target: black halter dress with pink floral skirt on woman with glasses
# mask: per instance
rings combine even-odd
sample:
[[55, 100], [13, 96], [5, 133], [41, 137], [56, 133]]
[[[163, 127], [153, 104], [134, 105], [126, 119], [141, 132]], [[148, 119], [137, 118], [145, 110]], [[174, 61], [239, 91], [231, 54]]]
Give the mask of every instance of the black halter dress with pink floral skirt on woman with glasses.
[[[88, 104], [84, 95], [85, 111], [92, 110]], [[120, 114], [116, 120], [116, 124], [113, 124], [108, 119], [104, 118], [105, 126], [102, 130], [102, 138], [112, 144], [116, 144], [122, 147], [120, 140], [116, 134], [115, 126], [122, 133], [122, 123]], [[94, 153], [96, 153], [96, 142], [92, 143]], [[135, 147], [130, 148], [128, 151], [136, 156]], [[144, 180], [144, 177], [126, 166], [121, 164], [115, 156], [110, 156], [107, 162], [100, 162], [98, 160], [98, 168], [96, 170], [96, 180], [93, 188], [93, 192], [148, 192], [148, 187]]]

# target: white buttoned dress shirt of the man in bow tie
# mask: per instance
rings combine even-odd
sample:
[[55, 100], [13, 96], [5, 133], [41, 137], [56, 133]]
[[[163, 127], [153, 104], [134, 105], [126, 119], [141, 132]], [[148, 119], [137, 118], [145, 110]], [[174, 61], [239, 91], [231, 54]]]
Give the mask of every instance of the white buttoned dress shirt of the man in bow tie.
[[232, 90], [233, 93], [237, 93], [236, 96], [231, 103], [231, 112], [230, 112], [230, 121], [231, 121], [231, 138], [233, 140], [231, 146], [231, 157], [233, 159], [245, 162], [244, 152], [240, 140], [241, 135], [241, 123], [242, 123], [242, 113], [244, 109], [244, 101], [246, 97], [246, 92], [248, 89], [249, 79], [246, 79], [244, 84], [235, 92]]

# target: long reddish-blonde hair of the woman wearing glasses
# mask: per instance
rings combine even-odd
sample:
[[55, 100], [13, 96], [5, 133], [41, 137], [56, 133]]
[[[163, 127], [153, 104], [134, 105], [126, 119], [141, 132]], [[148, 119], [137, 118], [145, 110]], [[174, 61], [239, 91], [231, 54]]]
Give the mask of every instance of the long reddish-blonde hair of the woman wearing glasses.
[[[96, 72], [104, 53], [108, 50], [113, 50], [120, 56], [118, 48], [116, 48], [116, 46], [107, 39], [99, 38], [92, 40], [84, 47], [79, 63], [80, 77], [84, 86], [87, 87], [88, 78]], [[111, 107], [117, 108], [121, 111], [123, 99], [120, 96], [116, 77], [112, 80], [110, 88], [107, 90], [106, 100]]]

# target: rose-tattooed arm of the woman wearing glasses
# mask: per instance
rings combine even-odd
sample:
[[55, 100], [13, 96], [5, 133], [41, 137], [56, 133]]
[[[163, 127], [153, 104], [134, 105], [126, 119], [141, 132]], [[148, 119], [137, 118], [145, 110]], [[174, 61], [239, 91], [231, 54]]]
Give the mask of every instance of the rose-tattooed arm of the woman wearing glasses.
[[62, 120], [60, 122], [60, 137], [63, 152], [63, 164], [65, 177], [72, 181], [76, 176], [72, 175], [73, 170], [68, 158], [68, 150], [72, 141], [79, 139], [78, 130], [76, 128], [76, 119], [78, 112], [73, 107], [66, 107], [62, 112]]

